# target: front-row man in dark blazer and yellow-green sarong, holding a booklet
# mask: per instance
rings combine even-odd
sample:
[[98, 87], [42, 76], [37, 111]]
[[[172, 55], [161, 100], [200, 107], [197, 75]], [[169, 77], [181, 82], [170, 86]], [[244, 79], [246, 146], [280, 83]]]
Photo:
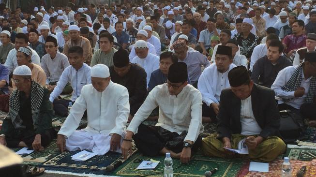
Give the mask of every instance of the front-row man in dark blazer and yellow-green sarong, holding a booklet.
[[224, 148], [238, 148], [241, 139], [249, 148], [249, 158], [271, 162], [284, 153], [286, 144], [278, 137], [280, 115], [273, 90], [250, 80], [246, 67], [228, 73], [230, 88], [221, 93], [217, 135], [202, 140], [205, 155], [234, 157]]

